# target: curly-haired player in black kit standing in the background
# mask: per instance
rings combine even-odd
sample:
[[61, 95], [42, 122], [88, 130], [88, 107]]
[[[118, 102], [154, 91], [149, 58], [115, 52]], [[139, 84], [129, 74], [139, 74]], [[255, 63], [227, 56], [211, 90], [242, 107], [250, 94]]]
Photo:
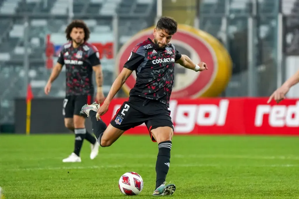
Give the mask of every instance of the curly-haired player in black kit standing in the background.
[[75, 147], [74, 152], [62, 161], [81, 162], [80, 151], [84, 139], [91, 143], [90, 158], [94, 159], [98, 154], [99, 144], [93, 135], [86, 132], [85, 118], [80, 115], [80, 111], [83, 105], [91, 104], [93, 100], [93, 71], [97, 82], [96, 100], [98, 103], [103, 102], [105, 98], [102, 90], [103, 74], [99, 52], [96, 47], [87, 42], [90, 31], [84, 21], [72, 21], [65, 33], [69, 43], [62, 46], [58, 61], [45, 86], [45, 93], [49, 94], [52, 82], [65, 65], [66, 97], [63, 101], [62, 114], [65, 117], [65, 127], [75, 133]]

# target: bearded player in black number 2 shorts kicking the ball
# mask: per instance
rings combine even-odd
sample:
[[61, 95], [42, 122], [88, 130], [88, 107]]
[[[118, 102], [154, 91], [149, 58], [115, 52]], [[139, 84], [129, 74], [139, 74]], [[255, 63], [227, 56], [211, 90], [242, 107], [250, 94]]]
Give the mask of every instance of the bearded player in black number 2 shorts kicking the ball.
[[[173, 88], [174, 65], [203, 71], [207, 65], [194, 64], [189, 57], [181, 55], [173, 44], [172, 36], [177, 31], [177, 22], [162, 17], [154, 29], [154, 39], [148, 38], [132, 50], [123, 70], [112, 84], [111, 90], [100, 107], [99, 104], [85, 105], [82, 113], [91, 118], [92, 128], [102, 147], [111, 146], [126, 130], [146, 124], [153, 142], [158, 143], [156, 162], [156, 188], [152, 195], [171, 195], [174, 184], [165, 182], [170, 166], [170, 150], [173, 137], [173, 123], [170, 118], [169, 99]], [[115, 94], [126, 79], [136, 71], [136, 84], [107, 127], [100, 116], [108, 110]]]

